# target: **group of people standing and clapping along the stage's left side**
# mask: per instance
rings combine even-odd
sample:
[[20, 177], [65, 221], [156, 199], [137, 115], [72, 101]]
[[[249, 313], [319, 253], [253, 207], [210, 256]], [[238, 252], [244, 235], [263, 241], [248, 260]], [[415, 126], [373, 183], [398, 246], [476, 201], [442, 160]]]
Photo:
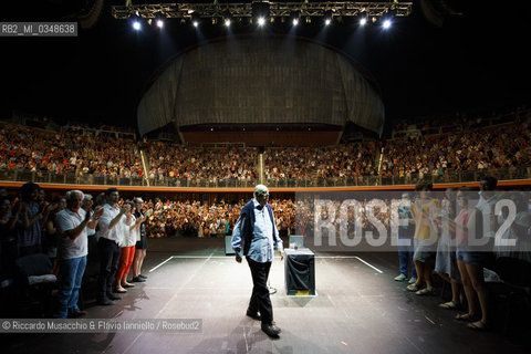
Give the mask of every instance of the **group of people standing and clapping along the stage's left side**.
[[18, 196], [2, 189], [2, 283], [14, 280], [14, 287], [21, 291], [27, 283], [22, 279], [28, 264], [31, 273], [25, 277], [56, 275], [59, 289], [53, 316], [64, 319], [86, 314], [79, 306], [79, 296], [90, 249], [96, 253], [91, 256], [100, 264], [98, 304], [111, 305], [121, 299], [118, 294], [126, 292], [126, 288], [134, 287], [134, 282], [145, 282], [147, 277], [142, 274], [142, 266], [147, 250], [146, 222], [152, 211], [145, 210], [139, 197], [121, 205], [118, 201], [116, 188], [96, 198], [70, 190], [52, 201], [33, 183], [22, 185]]

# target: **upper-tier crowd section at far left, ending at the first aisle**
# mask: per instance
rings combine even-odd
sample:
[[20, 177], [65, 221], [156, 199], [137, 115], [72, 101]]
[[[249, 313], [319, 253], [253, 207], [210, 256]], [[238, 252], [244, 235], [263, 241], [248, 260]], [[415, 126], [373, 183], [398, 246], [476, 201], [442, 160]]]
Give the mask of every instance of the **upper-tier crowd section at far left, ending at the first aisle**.
[[74, 132], [54, 133], [3, 124], [0, 129], [0, 169], [38, 175], [90, 174], [143, 176], [135, 140]]

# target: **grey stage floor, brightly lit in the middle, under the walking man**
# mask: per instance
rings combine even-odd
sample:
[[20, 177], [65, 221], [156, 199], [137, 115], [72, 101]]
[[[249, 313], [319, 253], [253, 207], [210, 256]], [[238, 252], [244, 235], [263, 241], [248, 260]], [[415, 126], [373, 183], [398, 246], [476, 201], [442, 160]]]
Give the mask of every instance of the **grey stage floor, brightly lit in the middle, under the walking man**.
[[136, 283], [115, 305], [88, 302], [87, 317], [201, 319], [201, 333], [10, 335], [2, 353], [529, 353], [529, 335], [472, 332], [452, 320], [454, 311], [437, 306], [441, 296], [407, 292], [406, 282], [393, 281], [393, 253], [317, 253], [317, 295], [304, 298], [285, 295], [284, 266], [277, 257], [270, 285], [277, 289], [271, 300], [282, 333], [271, 340], [244, 315], [249, 267], [225, 256], [222, 239], [149, 241], [147, 282]]

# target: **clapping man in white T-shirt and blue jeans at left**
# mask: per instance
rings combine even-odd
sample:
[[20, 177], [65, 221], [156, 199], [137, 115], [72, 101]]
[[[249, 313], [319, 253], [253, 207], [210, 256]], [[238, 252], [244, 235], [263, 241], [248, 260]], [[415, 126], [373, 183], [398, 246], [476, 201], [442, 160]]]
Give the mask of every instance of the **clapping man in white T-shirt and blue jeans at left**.
[[86, 314], [77, 306], [77, 300], [88, 253], [87, 236], [94, 233], [103, 209], [97, 209], [91, 220], [91, 209], [81, 208], [82, 200], [81, 190], [67, 191], [66, 208], [55, 217], [61, 235], [58, 257], [59, 308], [54, 314], [56, 319], [66, 319], [67, 315], [79, 317]]

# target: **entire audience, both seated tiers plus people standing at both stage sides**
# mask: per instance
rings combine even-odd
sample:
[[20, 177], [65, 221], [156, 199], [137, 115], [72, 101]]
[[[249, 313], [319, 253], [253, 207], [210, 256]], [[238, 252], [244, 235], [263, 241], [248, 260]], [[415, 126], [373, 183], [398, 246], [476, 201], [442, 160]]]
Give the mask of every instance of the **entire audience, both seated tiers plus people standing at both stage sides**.
[[[423, 134], [382, 142], [319, 148], [269, 147], [263, 152], [263, 175], [271, 183], [284, 179], [352, 180], [363, 176], [398, 177], [407, 183], [414, 180], [413, 176], [424, 180], [455, 171], [481, 174], [531, 165], [528, 121], [504, 125], [501, 132], [499, 126], [481, 126], [480, 119], [468, 123], [458, 132], [427, 135], [429, 129], [426, 128]], [[170, 186], [197, 179], [211, 183], [236, 179], [252, 184], [260, 174], [259, 149], [254, 147], [202, 148], [147, 142], [140, 148], [133, 138], [100, 134], [103, 133], [98, 129], [83, 127], [56, 133], [1, 124], [0, 170], [29, 170], [38, 176], [46, 173], [71, 174], [80, 178], [94, 176], [111, 181], [147, 176], [154, 185], [164, 181]], [[531, 264], [531, 247], [525, 251], [502, 248], [485, 251], [466, 244], [472, 225], [476, 229], [485, 229], [477, 227], [481, 223], [478, 219], [485, 222], [487, 216], [498, 227], [504, 220], [503, 215], [498, 216], [499, 220], [493, 216], [492, 206], [498, 200], [496, 178], [481, 181], [479, 202], [473, 205], [468, 205], [468, 199], [462, 197], [471, 190], [449, 189], [445, 197], [435, 198], [430, 189], [428, 183], [420, 183], [412, 208], [398, 209], [400, 217], [407, 220], [406, 226], [397, 227], [398, 238], [410, 239], [412, 243], [398, 247], [400, 273], [395, 280], [407, 281], [406, 289], [417, 295], [433, 295], [434, 277], [439, 277], [451, 288], [451, 300], [440, 306], [466, 310], [455, 319], [469, 322], [472, 330], [488, 330], [492, 325], [492, 315], [483, 268], [510, 278], [513, 270], [500, 267], [497, 260], [519, 259]], [[348, 223], [347, 235], [357, 230], [377, 233], [376, 221], [386, 229], [396, 227], [391, 207], [393, 198], [381, 198], [379, 205], [374, 205], [371, 198], [362, 198], [357, 209], [347, 208], [346, 217], [354, 221]], [[402, 198], [412, 199], [412, 196], [405, 194]], [[531, 237], [529, 198], [516, 194], [511, 200], [522, 202], [504, 237], [520, 239], [521, 247], [529, 242], [521, 236]], [[139, 196], [121, 198], [115, 188], [94, 198], [81, 190], [71, 190], [50, 199], [39, 185], [28, 183], [18, 196], [0, 191], [0, 275], [2, 280], [15, 278], [20, 259], [44, 254], [50, 259], [50, 272], [59, 277], [53, 315], [82, 316], [84, 311], [77, 305], [79, 293], [91, 249], [97, 253], [100, 264], [97, 303], [112, 305], [128, 288], [146, 281], [142, 266], [148, 238], [231, 235], [246, 202], [219, 200], [206, 204], [158, 198], [144, 201]], [[270, 204], [281, 236], [293, 232], [312, 236], [320, 227], [314, 200], [271, 199]], [[339, 212], [340, 204], [335, 200], [331, 206]], [[431, 212], [434, 208], [436, 217]], [[326, 219], [331, 210], [325, 207], [321, 212]]]

